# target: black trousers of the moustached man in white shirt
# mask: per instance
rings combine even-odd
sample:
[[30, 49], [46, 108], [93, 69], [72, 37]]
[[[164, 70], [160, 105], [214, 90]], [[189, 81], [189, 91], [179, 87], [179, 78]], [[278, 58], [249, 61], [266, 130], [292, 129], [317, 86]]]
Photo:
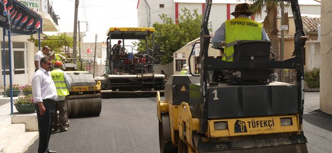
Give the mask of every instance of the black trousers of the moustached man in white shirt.
[[53, 115], [55, 108], [54, 100], [51, 99], [43, 99], [43, 105], [46, 109], [43, 115], [40, 115], [39, 113], [39, 106], [37, 104], [35, 105], [38, 119], [39, 153], [46, 153], [49, 150], [49, 141], [52, 131]]

